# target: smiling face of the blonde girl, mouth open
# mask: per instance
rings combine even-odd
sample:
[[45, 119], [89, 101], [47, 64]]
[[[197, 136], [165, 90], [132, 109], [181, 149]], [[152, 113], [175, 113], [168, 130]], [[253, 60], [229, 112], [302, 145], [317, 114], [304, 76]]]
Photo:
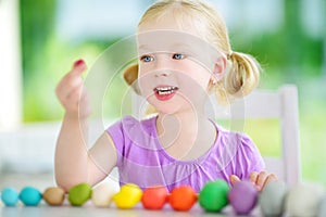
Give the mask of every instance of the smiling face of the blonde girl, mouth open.
[[210, 80], [217, 79], [221, 56], [191, 26], [180, 29], [172, 16], [139, 27], [138, 84], [159, 112], [203, 108]]

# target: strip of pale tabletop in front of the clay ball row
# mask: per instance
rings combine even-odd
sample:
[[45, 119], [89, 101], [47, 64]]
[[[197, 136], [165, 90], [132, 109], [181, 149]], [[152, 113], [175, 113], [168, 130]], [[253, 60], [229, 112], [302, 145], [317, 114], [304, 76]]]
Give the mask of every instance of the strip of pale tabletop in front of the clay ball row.
[[[195, 205], [188, 212], [176, 212], [164, 206], [162, 210], [148, 210], [142, 208], [140, 205], [131, 209], [118, 209], [116, 207], [96, 207], [88, 203], [82, 207], [63, 205], [63, 206], [49, 206], [47, 204], [39, 204], [38, 206], [15, 206], [15, 207], [0, 207], [0, 216], [2, 217], [84, 217], [84, 216], [96, 216], [96, 217], [231, 217], [237, 216], [234, 214], [231, 207], [227, 206], [222, 213], [205, 213], [198, 205]], [[259, 208], [256, 207], [249, 215], [251, 217], [261, 216]]]

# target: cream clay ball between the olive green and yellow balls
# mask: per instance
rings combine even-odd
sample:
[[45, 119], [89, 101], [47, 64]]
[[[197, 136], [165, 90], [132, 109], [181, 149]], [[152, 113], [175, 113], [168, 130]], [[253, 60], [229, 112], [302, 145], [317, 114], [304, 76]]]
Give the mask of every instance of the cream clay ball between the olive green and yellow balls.
[[110, 206], [113, 195], [117, 192], [115, 188], [109, 182], [98, 184], [91, 193], [91, 201], [93, 205], [99, 207]]

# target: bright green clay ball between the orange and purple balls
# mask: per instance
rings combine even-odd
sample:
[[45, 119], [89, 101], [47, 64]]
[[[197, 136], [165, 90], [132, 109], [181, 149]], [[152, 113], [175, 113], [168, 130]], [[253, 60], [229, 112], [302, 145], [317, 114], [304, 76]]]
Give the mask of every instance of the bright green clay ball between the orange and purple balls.
[[229, 187], [224, 180], [209, 181], [199, 192], [199, 205], [206, 212], [220, 212], [227, 204]]

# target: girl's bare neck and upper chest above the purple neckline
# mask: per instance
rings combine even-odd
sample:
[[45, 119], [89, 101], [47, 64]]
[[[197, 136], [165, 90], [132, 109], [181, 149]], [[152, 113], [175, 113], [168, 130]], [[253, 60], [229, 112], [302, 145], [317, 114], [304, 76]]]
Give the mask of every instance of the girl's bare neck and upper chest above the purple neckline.
[[216, 138], [215, 126], [202, 113], [159, 114], [156, 130], [165, 151], [179, 159], [199, 157]]

